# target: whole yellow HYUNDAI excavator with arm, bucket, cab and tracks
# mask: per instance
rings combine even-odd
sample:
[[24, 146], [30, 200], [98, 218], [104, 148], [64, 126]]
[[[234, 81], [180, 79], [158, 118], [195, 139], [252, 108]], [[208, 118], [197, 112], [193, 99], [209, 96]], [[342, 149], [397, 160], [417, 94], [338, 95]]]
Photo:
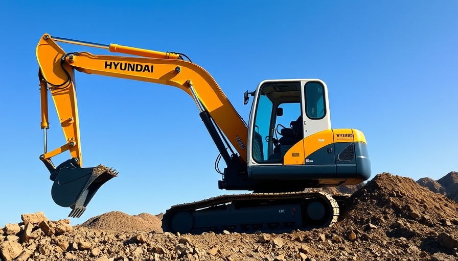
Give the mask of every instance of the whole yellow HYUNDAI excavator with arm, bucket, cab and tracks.
[[[57, 42], [102, 48], [114, 55], [66, 53]], [[223, 230], [252, 233], [327, 227], [337, 221], [348, 195], [311, 188], [356, 185], [371, 176], [367, 141], [357, 129], [331, 128], [328, 88], [319, 79], [265, 80], [244, 93], [253, 97], [248, 124], [213, 77], [181, 53], [119, 44], [100, 44], [44, 34], [37, 45], [44, 153], [55, 203], [80, 217], [87, 204], [118, 172], [104, 165], [83, 167], [75, 70], [174, 86], [196, 103], [215, 142], [221, 190], [251, 191], [178, 204], [166, 211], [163, 230], [202, 233]], [[52, 96], [65, 143], [47, 148], [48, 95]], [[70, 159], [52, 158], [70, 152]], [[219, 168], [220, 160], [225, 168]]]

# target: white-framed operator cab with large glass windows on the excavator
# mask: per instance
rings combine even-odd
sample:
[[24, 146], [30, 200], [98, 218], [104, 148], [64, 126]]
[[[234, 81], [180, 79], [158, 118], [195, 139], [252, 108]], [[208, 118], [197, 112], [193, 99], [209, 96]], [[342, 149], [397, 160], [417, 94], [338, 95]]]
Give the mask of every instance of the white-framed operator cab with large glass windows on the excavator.
[[254, 95], [248, 141], [250, 165], [283, 164], [293, 145], [331, 128], [327, 89], [322, 81], [264, 81]]

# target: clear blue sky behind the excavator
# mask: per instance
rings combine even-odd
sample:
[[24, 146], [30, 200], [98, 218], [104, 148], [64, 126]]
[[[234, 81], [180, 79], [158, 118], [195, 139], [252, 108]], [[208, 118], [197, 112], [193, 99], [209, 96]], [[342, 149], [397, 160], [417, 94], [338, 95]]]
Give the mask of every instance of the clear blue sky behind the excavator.
[[[262, 80], [322, 79], [332, 127], [365, 134], [372, 177], [385, 171], [439, 179], [458, 170], [457, 1], [91, 2], [0, 2], [0, 226], [20, 222], [22, 213], [57, 220], [70, 212], [53, 202], [38, 159], [35, 48], [43, 33], [185, 53], [245, 120], [243, 92]], [[186, 93], [83, 73], [76, 82], [84, 165], [120, 175], [72, 224], [234, 193], [218, 190], [218, 152]], [[64, 139], [53, 106], [50, 115], [52, 149]]]

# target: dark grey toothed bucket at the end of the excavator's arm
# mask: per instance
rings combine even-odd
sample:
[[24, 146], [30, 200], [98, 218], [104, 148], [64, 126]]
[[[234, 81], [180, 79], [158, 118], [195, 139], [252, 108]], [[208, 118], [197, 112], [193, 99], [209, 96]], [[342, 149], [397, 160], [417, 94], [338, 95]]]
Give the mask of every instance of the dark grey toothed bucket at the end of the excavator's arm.
[[54, 180], [51, 196], [60, 206], [72, 208], [68, 217], [79, 218], [97, 190], [118, 172], [103, 165], [95, 168], [63, 167]]

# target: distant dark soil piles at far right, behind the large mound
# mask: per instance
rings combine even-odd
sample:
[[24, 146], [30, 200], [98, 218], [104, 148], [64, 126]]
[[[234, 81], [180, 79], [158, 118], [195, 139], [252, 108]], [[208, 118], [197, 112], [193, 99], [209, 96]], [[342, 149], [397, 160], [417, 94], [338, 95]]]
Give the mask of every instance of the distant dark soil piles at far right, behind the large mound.
[[458, 202], [458, 172], [452, 171], [437, 181], [429, 177], [420, 178], [417, 183]]

